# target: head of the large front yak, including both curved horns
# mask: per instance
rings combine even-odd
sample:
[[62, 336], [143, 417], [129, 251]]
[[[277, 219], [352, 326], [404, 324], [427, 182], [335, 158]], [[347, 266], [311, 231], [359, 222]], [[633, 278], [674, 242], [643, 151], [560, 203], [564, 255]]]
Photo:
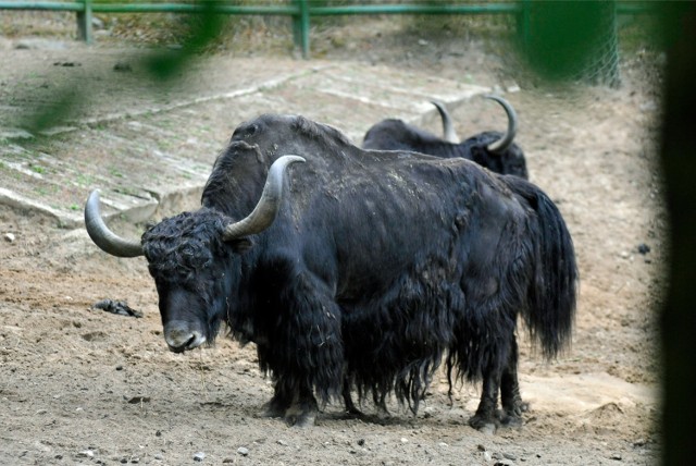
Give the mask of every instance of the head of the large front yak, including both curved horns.
[[85, 207], [85, 224], [92, 241], [119, 257], [144, 255], [159, 296], [164, 340], [181, 353], [212, 343], [220, 323], [228, 320], [231, 302], [239, 286], [239, 255], [250, 246], [248, 236], [268, 229], [278, 212], [285, 168], [301, 157], [284, 156], [269, 169], [256, 208], [235, 221], [203, 207], [183, 212], [152, 226], [140, 242], [119, 237], [99, 212], [94, 191]]

